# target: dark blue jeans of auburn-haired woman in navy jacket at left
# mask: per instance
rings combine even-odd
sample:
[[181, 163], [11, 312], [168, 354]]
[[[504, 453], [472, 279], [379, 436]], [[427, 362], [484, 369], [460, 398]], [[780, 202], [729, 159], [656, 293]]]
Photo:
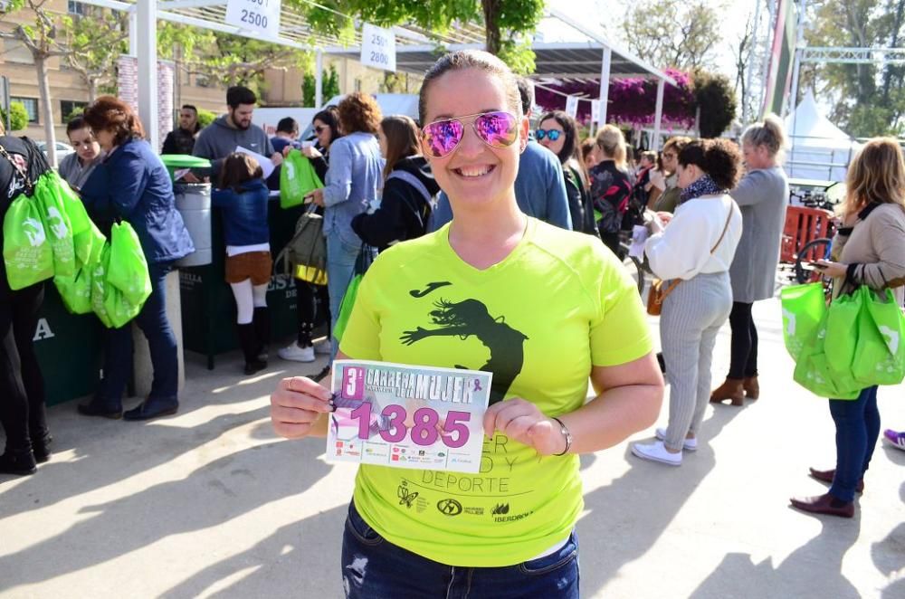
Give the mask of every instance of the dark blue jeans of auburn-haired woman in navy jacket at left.
[[[148, 338], [154, 380], [148, 400], [178, 402], [179, 357], [176, 336], [167, 319], [167, 272], [173, 262], [148, 264], [151, 294], [135, 317], [138, 328]], [[122, 405], [122, 394], [132, 373], [132, 325], [108, 328], [104, 337], [104, 377], [100, 381], [97, 402], [110, 408]]]

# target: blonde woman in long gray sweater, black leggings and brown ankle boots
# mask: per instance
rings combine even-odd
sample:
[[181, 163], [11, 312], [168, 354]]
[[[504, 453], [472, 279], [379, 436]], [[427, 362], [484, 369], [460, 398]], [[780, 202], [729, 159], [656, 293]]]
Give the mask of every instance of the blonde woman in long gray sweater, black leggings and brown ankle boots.
[[782, 121], [767, 115], [742, 134], [742, 153], [748, 173], [730, 195], [741, 208], [742, 233], [729, 277], [732, 280], [731, 362], [729, 376], [710, 395], [719, 403], [744, 404], [757, 399], [757, 328], [751, 307], [759, 299], [772, 298], [779, 265], [779, 245], [786, 222], [789, 185], [782, 162], [786, 133]]

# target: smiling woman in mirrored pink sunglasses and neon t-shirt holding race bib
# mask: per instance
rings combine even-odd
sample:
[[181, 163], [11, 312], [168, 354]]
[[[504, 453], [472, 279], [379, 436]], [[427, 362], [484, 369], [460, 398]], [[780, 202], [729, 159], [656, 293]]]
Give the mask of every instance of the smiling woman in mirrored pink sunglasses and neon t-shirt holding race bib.
[[[649, 426], [662, 402], [643, 308], [601, 243], [519, 211], [529, 121], [503, 62], [447, 54], [427, 72], [420, 117], [452, 223], [380, 254], [338, 357], [491, 371], [488, 439], [476, 474], [359, 467], [344, 588], [368, 599], [577, 597], [577, 454]], [[586, 403], [588, 376], [599, 395]], [[330, 396], [283, 379], [274, 429], [324, 436]]]

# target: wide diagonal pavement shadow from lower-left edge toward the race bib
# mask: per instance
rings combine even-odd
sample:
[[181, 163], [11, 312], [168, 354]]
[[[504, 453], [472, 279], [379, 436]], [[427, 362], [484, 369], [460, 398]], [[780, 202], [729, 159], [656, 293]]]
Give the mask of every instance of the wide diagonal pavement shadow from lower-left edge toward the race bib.
[[[300, 452], [309, 455], [300, 456]], [[3, 583], [9, 587], [39, 583], [97, 566], [161, 539], [216, 527], [272, 501], [297, 495], [332, 470], [316, 460], [317, 455], [314, 444], [256, 445], [205, 464], [185, 479], [86, 507], [81, 514], [90, 518], [5, 556], [0, 561]], [[294, 471], [274, 477], [271, 471], [262, 470], [262, 464], [274, 463], [293, 464]], [[59, 558], [63, 555], [65, 558]], [[14, 564], [28, 566], [10, 567]], [[159, 566], [148, 563], [148, 572], [135, 574], [153, 576], [153, 569]]]

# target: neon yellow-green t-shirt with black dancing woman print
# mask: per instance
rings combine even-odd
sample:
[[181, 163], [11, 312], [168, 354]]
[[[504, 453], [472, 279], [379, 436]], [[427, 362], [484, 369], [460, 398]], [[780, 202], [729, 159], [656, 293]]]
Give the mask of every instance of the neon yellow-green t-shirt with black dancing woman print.
[[[510, 255], [479, 271], [452, 251], [448, 233], [380, 254], [358, 289], [344, 354], [490, 371], [491, 404], [522, 397], [557, 416], [584, 404], [592, 365], [652, 350], [634, 281], [593, 237], [532, 218]], [[389, 542], [479, 567], [554, 547], [584, 503], [578, 456], [540, 457], [496, 433], [477, 474], [361, 465], [355, 505]]]

